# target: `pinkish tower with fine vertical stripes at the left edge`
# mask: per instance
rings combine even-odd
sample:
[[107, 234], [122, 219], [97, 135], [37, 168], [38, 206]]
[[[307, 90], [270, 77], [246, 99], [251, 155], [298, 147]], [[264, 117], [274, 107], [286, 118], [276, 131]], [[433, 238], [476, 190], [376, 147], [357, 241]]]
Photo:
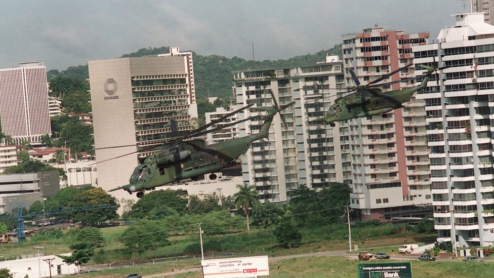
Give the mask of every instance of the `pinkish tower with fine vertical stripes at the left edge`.
[[0, 117], [2, 131], [16, 144], [36, 143], [51, 135], [48, 85], [43, 62], [0, 69]]

